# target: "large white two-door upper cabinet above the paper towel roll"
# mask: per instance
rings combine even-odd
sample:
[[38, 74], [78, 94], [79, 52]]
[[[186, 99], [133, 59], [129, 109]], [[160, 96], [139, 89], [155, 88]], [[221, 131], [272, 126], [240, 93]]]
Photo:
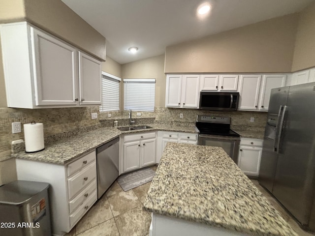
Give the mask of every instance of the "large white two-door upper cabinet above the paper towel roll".
[[99, 61], [26, 22], [0, 33], [8, 107], [100, 104]]

